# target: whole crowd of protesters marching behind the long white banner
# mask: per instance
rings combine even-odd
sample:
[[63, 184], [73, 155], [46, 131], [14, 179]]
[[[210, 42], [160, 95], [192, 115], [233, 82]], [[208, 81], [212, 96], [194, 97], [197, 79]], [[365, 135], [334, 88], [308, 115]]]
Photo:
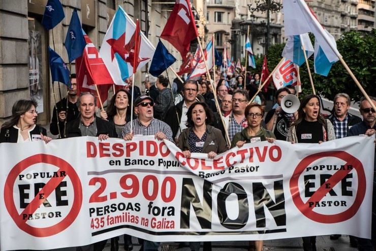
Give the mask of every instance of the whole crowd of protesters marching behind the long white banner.
[[[296, 94], [295, 88], [289, 86], [277, 90], [276, 104], [265, 111], [266, 94], [258, 92], [262, 84], [260, 74], [225, 77], [218, 72], [215, 79], [210, 78], [206, 74], [199, 80], [182, 82], [176, 78], [170, 85], [169, 79], [163, 75], [158, 78], [148, 76], [144, 82], [144, 95], [139, 88], [134, 97], [131, 97], [129, 87], [128, 90], [118, 90], [109, 99], [107, 109], [97, 117], [96, 97], [90, 93], [77, 96], [76, 79], [72, 75], [67, 98], [58, 102], [53, 110], [51, 133], [59, 134], [59, 137], [88, 135], [100, 140], [118, 137], [126, 141], [132, 140], [134, 135], [154, 135], [158, 140], [165, 138], [174, 142], [185, 157], [190, 157], [191, 153], [206, 153], [208, 158], [214, 158], [216, 154], [242, 147], [245, 143], [268, 141], [272, 144], [275, 140], [282, 140], [320, 144], [351, 135], [373, 135], [376, 129], [376, 112], [366, 99], [360, 102], [363, 120], [348, 112], [350, 97], [344, 93], [335, 96], [332, 114], [327, 118], [321, 114], [320, 98], [313, 94], [303, 97], [298, 110], [288, 114], [281, 108], [281, 100], [288, 94]], [[376, 105], [376, 98], [371, 99]], [[12, 118], [1, 128], [0, 142], [51, 141], [46, 130], [36, 125], [36, 106], [34, 101], [17, 101]], [[373, 204], [372, 216], [375, 213]], [[374, 217], [372, 227], [373, 220]], [[372, 231], [371, 240], [351, 237], [351, 245], [358, 245], [359, 250], [373, 250], [374, 234]], [[339, 237], [331, 236], [332, 239]], [[118, 240], [118, 237], [111, 239], [111, 250], [118, 250]], [[160, 245], [158, 242], [139, 241], [142, 250], [158, 250]], [[80, 248], [102, 250], [104, 243]], [[133, 249], [131, 236], [124, 235], [124, 243], [125, 250]], [[190, 247], [199, 250], [200, 243], [191, 242]], [[203, 247], [211, 250], [210, 242], [205, 242]], [[249, 250], [261, 251], [262, 248], [263, 241], [252, 242], [249, 246]], [[316, 250], [316, 237], [303, 237], [303, 249]]]

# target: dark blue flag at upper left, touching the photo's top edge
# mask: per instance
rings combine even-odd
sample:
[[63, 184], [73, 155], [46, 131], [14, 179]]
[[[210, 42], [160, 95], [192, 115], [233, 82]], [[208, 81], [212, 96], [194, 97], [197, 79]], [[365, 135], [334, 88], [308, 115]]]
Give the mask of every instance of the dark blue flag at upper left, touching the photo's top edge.
[[64, 10], [62, 10], [62, 6], [59, 0], [48, 0], [42, 18], [42, 25], [47, 30], [51, 30], [59, 22], [61, 22], [61, 20], [64, 19], [64, 17]]

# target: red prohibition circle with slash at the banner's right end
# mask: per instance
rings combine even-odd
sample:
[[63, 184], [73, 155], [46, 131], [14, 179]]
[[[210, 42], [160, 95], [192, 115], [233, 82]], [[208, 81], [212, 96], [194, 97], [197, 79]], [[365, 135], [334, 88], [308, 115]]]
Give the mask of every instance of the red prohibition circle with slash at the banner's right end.
[[[321, 201], [324, 196], [338, 183], [340, 182], [351, 170], [338, 170], [332, 177], [330, 177], [319, 189], [304, 203], [300, 197], [298, 180], [300, 175], [304, 172], [307, 166], [317, 159], [324, 157], [336, 157], [346, 161], [346, 164], [352, 164], [353, 168], [357, 172], [358, 176], [358, 189], [353, 205], [338, 214], [320, 214], [314, 212], [315, 207], [309, 207], [309, 202]], [[326, 188], [326, 184], [330, 183], [330, 188]], [[366, 180], [362, 163], [354, 156], [342, 151], [323, 152], [309, 155], [302, 159], [296, 167], [294, 174], [290, 180], [290, 191], [296, 207], [309, 219], [320, 223], [337, 223], [345, 221], [353, 217], [363, 202], [366, 190]]]

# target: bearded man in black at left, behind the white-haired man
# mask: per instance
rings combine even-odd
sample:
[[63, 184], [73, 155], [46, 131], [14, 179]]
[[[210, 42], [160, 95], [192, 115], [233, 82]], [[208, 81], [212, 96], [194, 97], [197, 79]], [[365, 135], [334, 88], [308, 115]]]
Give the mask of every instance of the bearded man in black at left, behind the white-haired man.
[[[61, 99], [53, 107], [52, 120], [50, 124], [50, 131], [53, 135], [60, 134], [60, 137], [65, 138], [66, 135], [66, 124], [79, 115], [77, 103], [77, 80], [76, 74], [71, 74], [71, 86], [67, 87], [68, 95], [67, 97]], [[68, 102], [67, 102], [68, 98]], [[57, 122], [58, 118], [58, 122]]]

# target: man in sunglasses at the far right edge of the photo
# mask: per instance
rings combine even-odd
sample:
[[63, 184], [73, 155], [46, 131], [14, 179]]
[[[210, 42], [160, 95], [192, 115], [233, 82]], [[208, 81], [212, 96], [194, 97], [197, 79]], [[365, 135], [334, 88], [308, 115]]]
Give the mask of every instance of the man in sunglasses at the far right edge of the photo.
[[[369, 97], [376, 106], [376, 98]], [[365, 134], [372, 136], [376, 130], [376, 111], [373, 109], [369, 101], [363, 97], [360, 100], [359, 105], [360, 114], [363, 117], [363, 121], [352, 126], [347, 136], [355, 136], [360, 134]], [[376, 149], [375, 149], [376, 151]], [[373, 192], [376, 192], [376, 152], [374, 155], [374, 166], [373, 166]], [[371, 239], [358, 238], [358, 250], [373, 250], [376, 247], [376, 199], [372, 200], [372, 223], [371, 223]]]

